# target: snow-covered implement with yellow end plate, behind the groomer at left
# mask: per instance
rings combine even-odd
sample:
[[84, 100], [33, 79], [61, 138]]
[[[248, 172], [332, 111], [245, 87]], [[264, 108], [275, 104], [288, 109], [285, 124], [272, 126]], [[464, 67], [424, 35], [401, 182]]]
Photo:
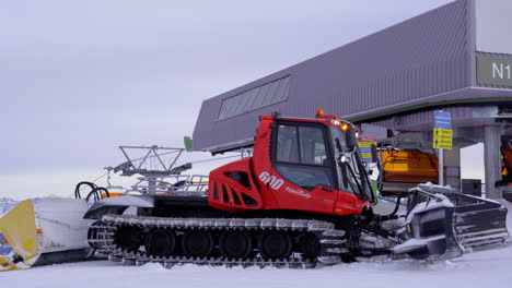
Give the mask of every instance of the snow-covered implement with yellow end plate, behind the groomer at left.
[[[24, 201], [0, 219], [0, 235], [11, 250], [0, 255], [0, 271], [91, 260], [83, 219], [85, 200], [40, 199]], [[0, 237], [1, 238], [1, 237]]]

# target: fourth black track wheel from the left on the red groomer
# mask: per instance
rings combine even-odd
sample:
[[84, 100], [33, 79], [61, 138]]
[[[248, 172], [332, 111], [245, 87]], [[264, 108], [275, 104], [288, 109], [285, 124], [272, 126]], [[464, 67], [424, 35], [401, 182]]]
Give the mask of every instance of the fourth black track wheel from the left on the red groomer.
[[253, 251], [253, 241], [246, 231], [225, 231], [219, 239], [219, 250], [229, 259], [245, 259]]

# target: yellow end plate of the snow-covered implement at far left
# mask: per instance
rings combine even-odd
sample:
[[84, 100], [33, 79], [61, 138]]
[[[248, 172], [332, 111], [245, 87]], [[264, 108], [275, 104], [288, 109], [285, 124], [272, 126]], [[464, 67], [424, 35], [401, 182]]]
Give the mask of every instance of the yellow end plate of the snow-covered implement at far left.
[[[34, 202], [26, 200], [0, 218], [0, 232], [16, 256], [0, 256], [0, 271], [28, 268], [39, 256]], [[16, 259], [19, 257], [19, 259]]]

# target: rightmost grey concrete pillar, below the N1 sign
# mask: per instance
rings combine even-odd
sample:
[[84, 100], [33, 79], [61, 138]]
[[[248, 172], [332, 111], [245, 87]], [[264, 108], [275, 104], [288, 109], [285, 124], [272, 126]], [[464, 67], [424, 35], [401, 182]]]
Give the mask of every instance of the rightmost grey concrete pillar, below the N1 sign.
[[484, 128], [484, 164], [486, 169], [486, 195], [488, 199], [500, 199], [500, 191], [494, 188], [501, 180], [501, 131], [499, 127]]

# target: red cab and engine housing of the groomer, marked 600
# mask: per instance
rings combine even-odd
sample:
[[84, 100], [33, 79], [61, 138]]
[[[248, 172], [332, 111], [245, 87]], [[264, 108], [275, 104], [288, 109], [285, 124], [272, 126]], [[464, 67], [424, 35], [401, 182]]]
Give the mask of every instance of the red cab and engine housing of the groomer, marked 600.
[[373, 193], [354, 135], [338, 118], [261, 117], [254, 156], [210, 172], [209, 203], [228, 211], [370, 212]]

